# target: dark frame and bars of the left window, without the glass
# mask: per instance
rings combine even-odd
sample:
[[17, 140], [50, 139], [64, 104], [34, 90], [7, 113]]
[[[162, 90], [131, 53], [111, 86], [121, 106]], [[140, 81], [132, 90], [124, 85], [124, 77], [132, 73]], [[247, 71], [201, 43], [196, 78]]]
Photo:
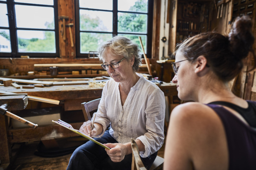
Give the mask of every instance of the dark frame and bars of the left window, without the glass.
[[[59, 20], [58, 20], [58, 2], [57, 0], [53, 0], [53, 5], [41, 5], [41, 4], [29, 4], [29, 3], [18, 3], [13, 0], [0, 1], [1, 4], [7, 4], [7, 12], [8, 12], [8, 21], [9, 27], [1, 27], [0, 29], [9, 29], [10, 33], [10, 41], [11, 41], [11, 52], [0, 52], [0, 57], [12, 57], [12, 58], [20, 58], [21, 55], [28, 55], [30, 58], [53, 58], [60, 55], [59, 48]], [[16, 27], [16, 14], [15, 14], [15, 5], [29, 5], [29, 6], [37, 6], [37, 7], [53, 7], [54, 11], [54, 24], [55, 29], [31, 29], [31, 28], [17, 28]], [[55, 53], [47, 53], [47, 52], [18, 52], [18, 37], [17, 30], [33, 30], [33, 31], [54, 31], [55, 32], [55, 44], [56, 44], [56, 52]]]

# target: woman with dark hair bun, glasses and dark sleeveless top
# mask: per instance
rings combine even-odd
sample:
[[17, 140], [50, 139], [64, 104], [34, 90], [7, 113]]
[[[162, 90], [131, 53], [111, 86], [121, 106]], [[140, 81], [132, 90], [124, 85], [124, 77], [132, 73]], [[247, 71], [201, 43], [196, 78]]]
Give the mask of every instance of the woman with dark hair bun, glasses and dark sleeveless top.
[[[252, 21], [237, 17], [229, 35], [189, 37], [172, 63], [178, 97], [167, 131], [164, 170], [255, 170], [256, 102], [234, 95], [228, 82], [253, 51]], [[255, 68], [255, 62], [253, 63]]]

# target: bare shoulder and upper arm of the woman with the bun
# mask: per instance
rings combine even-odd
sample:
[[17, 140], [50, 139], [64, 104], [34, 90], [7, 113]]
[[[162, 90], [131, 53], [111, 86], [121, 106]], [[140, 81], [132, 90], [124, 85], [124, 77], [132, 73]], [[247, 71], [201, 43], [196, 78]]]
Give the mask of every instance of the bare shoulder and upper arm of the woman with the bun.
[[224, 127], [219, 116], [207, 105], [188, 102], [176, 106], [169, 121], [167, 143], [167, 149], [173, 152], [166, 157], [172, 159], [178, 152], [180, 154], [173, 162], [166, 163], [166, 167], [178, 166], [175, 161], [179, 161], [181, 169], [221, 170], [227, 167]]

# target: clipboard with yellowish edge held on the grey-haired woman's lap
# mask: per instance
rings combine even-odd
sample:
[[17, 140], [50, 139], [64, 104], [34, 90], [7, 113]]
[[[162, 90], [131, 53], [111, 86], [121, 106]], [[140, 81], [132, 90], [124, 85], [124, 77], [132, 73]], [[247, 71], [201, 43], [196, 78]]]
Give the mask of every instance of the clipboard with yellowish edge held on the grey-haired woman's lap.
[[52, 120], [52, 122], [55, 122], [55, 123], [59, 124], [60, 126], [63, 126], [63, 127], [67, 128], [67, 129], [69, 129], [69, 130], [71, 130], [71, 131], [77, 133], [78, 135], [81, 135], [81, 136], [85, 137], [86, 139], [93, 141], [94, 143], [96, 143], [96, 144], [102, 146], [103, 148], [110, 149], [110, 148], [108, 148], [107, 146], [103, 145], [102, 143], [100, 143], [100, 142], [96, 141], [95, 139], [93, 139], [91, 136], [85, 135], [83, 132], [80, 132], [79, 130], [74, 129], [74, 128], [71, 126], [71, 124], [68, 124], [68, 123], [64, 122], [63, 120], [60, 120], [60, 119], [59, 119], [58, 121]]

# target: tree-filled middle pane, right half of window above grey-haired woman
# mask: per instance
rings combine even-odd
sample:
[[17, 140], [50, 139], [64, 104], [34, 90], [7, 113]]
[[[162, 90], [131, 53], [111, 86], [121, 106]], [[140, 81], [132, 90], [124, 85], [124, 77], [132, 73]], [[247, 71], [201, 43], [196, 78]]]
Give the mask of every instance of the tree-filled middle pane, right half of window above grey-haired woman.
[[147, 14], [131, 14], [119, 12], [118, 32], [125, 33], [147, 33]]

